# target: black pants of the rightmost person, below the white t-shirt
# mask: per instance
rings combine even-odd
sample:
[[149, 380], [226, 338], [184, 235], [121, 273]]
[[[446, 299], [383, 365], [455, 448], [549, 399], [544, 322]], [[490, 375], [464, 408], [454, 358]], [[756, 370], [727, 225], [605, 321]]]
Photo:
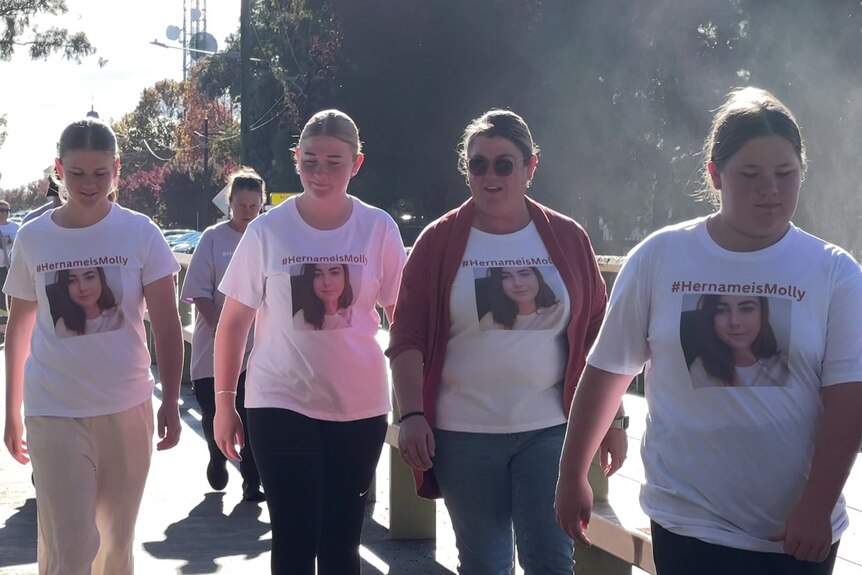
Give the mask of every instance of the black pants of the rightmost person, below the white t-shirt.
[[784, 553], [746, 551], [706, 543], [652, 525], [653, 559], [658, 575], [829, 575], [838, 556], [838, 543], [822, 563], [799, 561]]

